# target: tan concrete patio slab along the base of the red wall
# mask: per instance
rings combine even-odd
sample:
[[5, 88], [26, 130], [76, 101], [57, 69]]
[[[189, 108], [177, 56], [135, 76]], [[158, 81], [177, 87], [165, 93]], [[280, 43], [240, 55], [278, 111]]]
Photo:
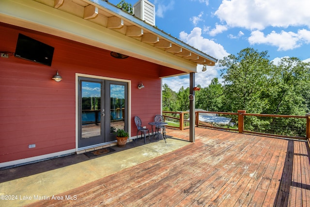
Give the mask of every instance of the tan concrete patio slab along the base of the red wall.
[[[86, 155], [80, 154], [1, 170], [0, 196], [11, 196], [8, 200], [2, 199], [1, 206], [24, 206], [47, 197], [52, 198], [187, 144], [190, 143], [179, 139], [168, 139], [167, 143], [160, 140], [138, 146], [137, 143], [127, 143], [125, 150], [113, 146], [116, 152], [94, 159], [85, 158]], [[62, 166], [62, 163], [59, 163], [60, 159], [62, 163], [69, 163]]]

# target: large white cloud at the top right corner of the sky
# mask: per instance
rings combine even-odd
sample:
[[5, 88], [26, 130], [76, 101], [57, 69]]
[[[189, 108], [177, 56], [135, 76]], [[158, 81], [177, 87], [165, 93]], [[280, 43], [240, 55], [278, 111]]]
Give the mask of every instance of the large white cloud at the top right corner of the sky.
[[229, 27], [263, 30], [268, 26], [308, 26], [309, 0], [223, 0], [215, 15]]

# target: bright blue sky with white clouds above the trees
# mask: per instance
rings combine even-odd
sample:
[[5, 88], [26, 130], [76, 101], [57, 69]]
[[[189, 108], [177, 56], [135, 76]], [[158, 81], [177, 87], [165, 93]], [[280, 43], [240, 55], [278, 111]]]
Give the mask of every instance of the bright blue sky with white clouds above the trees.
[[[109, 0], [117, 4], [121, 0]], [[134, 5], [138, 0], [126, 0]], [[297, 57], [310, 62], [310, 0], [149, 0], [158, 29], [220, 60], [244, 48], [268, 51], [270, 61]], [[220, 68], [197, 68], [195, 83], [206, 87]], [[178, 91], [189, 76], [163, 79]]]

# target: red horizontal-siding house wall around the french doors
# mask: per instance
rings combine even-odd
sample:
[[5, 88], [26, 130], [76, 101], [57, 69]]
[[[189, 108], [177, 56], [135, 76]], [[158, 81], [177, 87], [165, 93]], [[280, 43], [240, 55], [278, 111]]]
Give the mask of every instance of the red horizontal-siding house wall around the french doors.
[[[52, 35], [0, 24], [0, 162], [74, 149], [76, 146], [75, 73], [132, 81], [131, 132], [139, 115], [142, 124], [160, 113], [160, 65], [135, 58], [124, 60], [110, 51], [90, 47]], [[32, 63], [12, 55], [18, 33], [23, 33], [55, 48], [51, 66]], [[59, 71], [63, 80], [52, 76]], [[144, 89], [137, 88], [143, 81]], [[35, 148], [28, 148], [29, 144]]]

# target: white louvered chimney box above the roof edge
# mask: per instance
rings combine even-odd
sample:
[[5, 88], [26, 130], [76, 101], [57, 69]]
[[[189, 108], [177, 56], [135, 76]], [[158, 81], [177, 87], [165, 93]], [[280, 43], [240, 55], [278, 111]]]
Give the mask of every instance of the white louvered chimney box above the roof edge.
[[139, 0], [133, 6], [133, 13], [146, 23], [155, 26], [155, 5], [148, 0]]

